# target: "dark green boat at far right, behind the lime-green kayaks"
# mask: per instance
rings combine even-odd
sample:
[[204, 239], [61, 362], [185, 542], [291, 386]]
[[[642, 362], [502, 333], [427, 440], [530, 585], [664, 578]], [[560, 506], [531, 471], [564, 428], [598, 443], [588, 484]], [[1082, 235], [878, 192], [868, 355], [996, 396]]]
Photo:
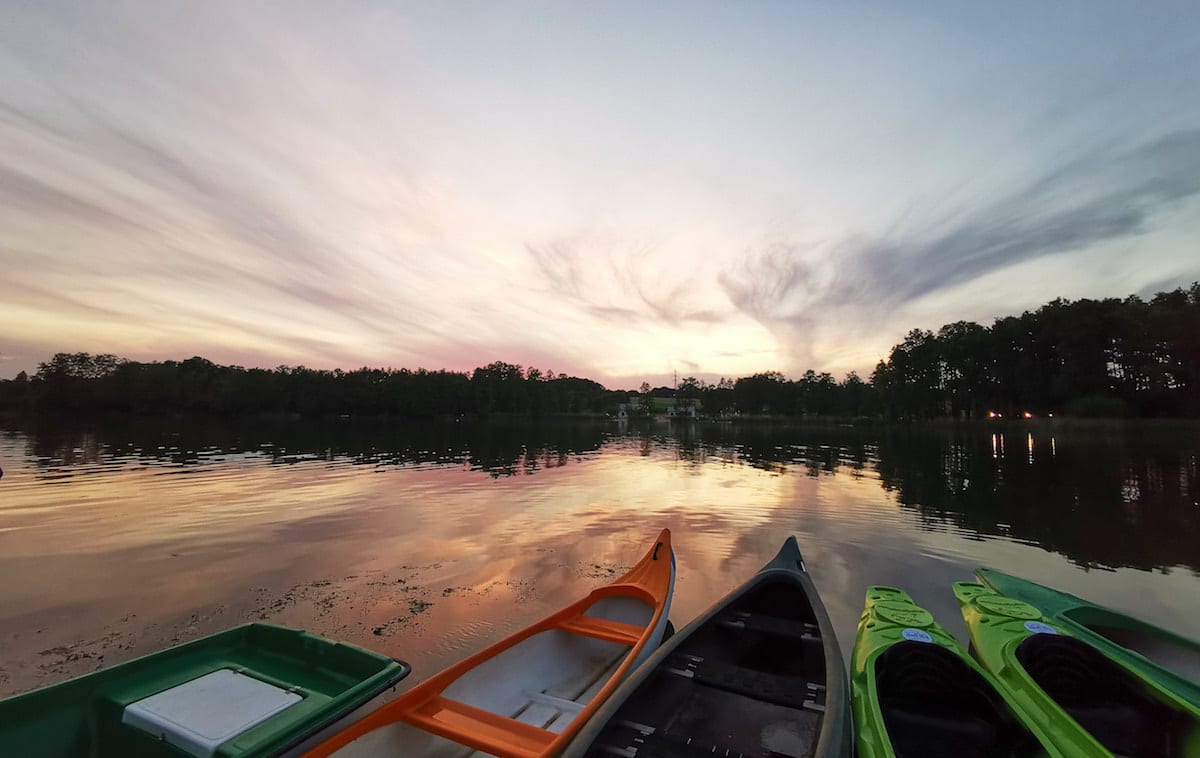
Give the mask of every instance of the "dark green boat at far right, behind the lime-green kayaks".
[[1104, 655], [1200, 706], [1200, 642], [1002, 571], [979, 568], [976, 576], [1001, 595], [1033, 606]]

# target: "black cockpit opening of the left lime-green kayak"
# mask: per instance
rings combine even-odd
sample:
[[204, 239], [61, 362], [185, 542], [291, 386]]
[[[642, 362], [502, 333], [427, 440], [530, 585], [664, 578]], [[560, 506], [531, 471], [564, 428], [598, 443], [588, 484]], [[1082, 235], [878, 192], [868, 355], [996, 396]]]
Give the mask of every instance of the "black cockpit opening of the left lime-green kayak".
[[875, 687], [896, 758], [1045, 756], [995, 688], [941, 645], [892, 645], [875, 660]]

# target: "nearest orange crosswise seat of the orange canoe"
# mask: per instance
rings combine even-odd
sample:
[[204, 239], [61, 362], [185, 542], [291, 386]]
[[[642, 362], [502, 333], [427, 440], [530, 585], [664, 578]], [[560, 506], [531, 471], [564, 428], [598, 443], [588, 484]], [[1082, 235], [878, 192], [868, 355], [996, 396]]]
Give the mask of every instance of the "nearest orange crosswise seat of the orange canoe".
[[404, 721], [460, 745], [494, 756], [528, 756], [546, 752], [557, 734], [492, 711], [444, 697], [433, 697], [403, 717]]

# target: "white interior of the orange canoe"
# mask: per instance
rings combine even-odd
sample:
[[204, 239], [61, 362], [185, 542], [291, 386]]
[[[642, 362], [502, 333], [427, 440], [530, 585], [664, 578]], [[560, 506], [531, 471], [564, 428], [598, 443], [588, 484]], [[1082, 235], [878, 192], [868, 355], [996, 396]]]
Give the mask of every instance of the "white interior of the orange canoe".
[[[566, 625], [541, 632], [509, 648], [463, 674], [434, 700], [443, 714], [445, 710], [457, 710], [464, 720], [470, 720], [472, 710], [478, 709], [538, 729], [562, 733], [612, 678], [630, 649], [637, 644], [642, 628], [653, 618], [654, 606], [642, 600], [630, 596], [602, 597], [578, 618], [580, 622], [575, 628]], [[599, 622], [592, 625], [589, 619]], [[616, 624], [602, 624], [604, 621]], [[667, 608], [664, 608], [650, 644], [642, 649], [641, 658], [649, 657], [661, 642], [666, 622]], [[625, 625], [629, 627], [628, 637], [622, 639]], [[601, 639], [596, 633], [602, 633], [608, 639]], [[630, 670], [638, 663], [641, 661], [635, 661]], [[466, 758], [488, 753], [446, 740], [410, 723], [394, 722], [364, 734], [335, 754], [342, 758]]]

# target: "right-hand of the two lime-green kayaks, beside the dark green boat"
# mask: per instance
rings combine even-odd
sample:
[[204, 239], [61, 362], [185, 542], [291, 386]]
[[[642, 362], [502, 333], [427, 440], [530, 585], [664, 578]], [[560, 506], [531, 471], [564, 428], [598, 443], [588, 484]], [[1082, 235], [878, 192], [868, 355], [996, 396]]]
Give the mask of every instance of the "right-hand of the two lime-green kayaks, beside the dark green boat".
[[954, 596], [979, 663], [1069, 756], [1200, 756], [1200, 709], [1048, 619], [971, 582]]

